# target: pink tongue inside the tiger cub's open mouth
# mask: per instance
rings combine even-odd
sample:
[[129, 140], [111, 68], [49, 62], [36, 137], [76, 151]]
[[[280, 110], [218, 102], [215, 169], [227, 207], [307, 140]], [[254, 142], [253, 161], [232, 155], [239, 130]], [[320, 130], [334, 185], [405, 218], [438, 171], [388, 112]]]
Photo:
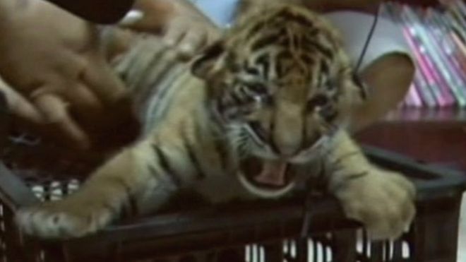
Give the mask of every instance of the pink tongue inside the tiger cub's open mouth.
[[281, 160], [264, 161], [262, 171], [254, 179], [258, 183], [271, 186], [283, 186], [285, 184], [285, 172], [287, 162]]

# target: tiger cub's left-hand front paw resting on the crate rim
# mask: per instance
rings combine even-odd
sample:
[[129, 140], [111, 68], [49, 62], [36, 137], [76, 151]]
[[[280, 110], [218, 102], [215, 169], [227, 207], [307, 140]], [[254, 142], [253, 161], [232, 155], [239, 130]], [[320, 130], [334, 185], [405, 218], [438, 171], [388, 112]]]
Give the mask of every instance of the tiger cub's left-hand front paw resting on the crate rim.
[[16, 222], [23, 232], [35, 237], [68, 239], [101, 230], [118, 215], [117, 210], [97, 199], [65, 199], [20, 209]]

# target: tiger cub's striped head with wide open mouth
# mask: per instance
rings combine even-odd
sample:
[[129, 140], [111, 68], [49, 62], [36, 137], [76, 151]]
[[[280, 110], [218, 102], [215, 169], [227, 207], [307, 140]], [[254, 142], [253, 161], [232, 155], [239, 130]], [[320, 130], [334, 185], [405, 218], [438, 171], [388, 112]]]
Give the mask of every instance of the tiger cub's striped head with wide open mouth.
[[262, 197], [291, 190], [294, 169], [322, 152], [364, 95], [335, 30], [300, 6], [244, 17], [192, 71], [237, 151], [240, 181]]

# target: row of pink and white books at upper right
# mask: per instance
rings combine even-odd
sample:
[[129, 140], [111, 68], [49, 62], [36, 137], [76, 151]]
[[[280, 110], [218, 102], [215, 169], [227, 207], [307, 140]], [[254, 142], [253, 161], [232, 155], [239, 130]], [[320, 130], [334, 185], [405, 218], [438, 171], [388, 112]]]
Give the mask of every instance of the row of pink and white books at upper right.
[[417, 61], [417, 72], [401, 107], [466, 107], [466, 4], [441, 8], [387, 2], [381, 15], [400, 23]]

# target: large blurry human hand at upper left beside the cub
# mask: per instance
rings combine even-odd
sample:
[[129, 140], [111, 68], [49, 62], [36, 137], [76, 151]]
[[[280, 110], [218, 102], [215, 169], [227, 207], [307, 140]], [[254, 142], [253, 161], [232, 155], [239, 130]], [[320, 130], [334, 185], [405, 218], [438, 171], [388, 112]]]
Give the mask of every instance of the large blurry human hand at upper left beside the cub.
[[1, 2], [0, 90], [13, 121], [73, 148], [136, 136], [129, 95], [94, 26], [45, 1]]

